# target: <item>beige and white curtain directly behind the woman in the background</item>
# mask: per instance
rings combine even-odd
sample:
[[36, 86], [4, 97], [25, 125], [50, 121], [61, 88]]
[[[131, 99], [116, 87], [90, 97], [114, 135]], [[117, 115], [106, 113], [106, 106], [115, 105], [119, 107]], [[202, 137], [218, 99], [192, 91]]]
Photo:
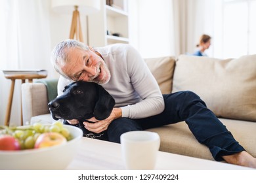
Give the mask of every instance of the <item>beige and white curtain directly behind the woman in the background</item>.
[[[214, 37], [214, 7], [218, 2], [219, 0], [173, 0], [176, 56], [192, 54], [202, 34]], [[206, 51], [208, 56], [213, 56], [212, 48], [213, 46]]]

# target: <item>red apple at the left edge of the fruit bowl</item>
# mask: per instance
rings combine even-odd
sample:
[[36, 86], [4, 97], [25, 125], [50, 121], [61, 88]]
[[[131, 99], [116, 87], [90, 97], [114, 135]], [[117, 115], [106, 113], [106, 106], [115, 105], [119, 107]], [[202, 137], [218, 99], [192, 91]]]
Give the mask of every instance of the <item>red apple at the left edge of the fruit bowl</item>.
[[11, 135], [0, 137], [0, 150], [20, 150], [20, 143]]

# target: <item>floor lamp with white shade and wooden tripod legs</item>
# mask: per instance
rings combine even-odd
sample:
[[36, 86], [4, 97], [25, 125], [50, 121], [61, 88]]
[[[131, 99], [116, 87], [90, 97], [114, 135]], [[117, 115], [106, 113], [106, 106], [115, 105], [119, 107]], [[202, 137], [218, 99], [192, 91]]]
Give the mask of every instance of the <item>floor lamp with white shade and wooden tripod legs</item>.
[[52, 0], [52, 8], [56, 12], [65, 14], [71, 14], [73, 10], [70, 39], [83, 42], [80, 13], [87, 15], [97, 12], [100, 10], [100, 0]]

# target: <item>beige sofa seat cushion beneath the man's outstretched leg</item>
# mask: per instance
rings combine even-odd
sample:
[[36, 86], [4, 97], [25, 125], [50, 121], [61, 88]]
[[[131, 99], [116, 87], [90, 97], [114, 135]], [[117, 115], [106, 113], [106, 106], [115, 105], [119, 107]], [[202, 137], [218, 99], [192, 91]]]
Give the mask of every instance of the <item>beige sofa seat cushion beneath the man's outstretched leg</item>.
[[[251, 156], [256, 157], [256, 123], [219, 118]], [[184, 156], [213, 160], [207, 146], [200, 144], [185, 122], [147, 129], [160, 135], [160, 150]], [[249, 134], [249, 135], [248, 135]]]

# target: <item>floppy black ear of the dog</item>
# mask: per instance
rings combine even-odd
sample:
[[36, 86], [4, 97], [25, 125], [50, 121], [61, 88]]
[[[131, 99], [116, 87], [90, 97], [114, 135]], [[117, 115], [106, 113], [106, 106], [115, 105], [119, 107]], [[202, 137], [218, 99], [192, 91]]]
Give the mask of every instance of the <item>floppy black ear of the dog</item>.
[[110, 116], [114, 105], [114, 98], [102, 86], [98, 85], [98, 101], [93, 112], [97, 120], [104, 120]]

